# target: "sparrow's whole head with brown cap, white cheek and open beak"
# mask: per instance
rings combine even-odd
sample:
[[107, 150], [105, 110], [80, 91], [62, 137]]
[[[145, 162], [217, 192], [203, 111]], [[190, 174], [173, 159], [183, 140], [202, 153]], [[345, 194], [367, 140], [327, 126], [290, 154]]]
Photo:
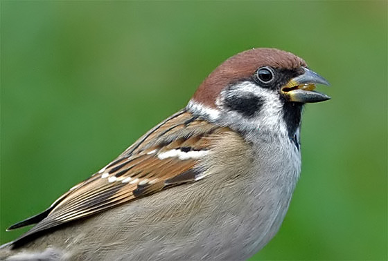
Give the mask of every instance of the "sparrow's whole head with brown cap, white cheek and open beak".
[[240, 131], [268, 128], [294, 135], [303, 104], [325, 101], [328, 81], [290, 52], [257, 48], [227, 59], [207, 77], [188, 109]]

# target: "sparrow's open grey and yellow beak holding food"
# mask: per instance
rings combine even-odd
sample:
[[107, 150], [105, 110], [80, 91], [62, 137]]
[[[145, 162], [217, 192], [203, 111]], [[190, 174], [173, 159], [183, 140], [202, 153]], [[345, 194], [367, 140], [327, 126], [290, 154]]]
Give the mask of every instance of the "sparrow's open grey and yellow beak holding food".
[[330, 99], [328, 95], [315, 92], [315, 84], [330, 85], [324, 77], [318, 75], [308, 68], [304, 68], [303, 75], [292, 78], [281, 88], [281, 93], [290, 101], [303, 103], [326, 101]]

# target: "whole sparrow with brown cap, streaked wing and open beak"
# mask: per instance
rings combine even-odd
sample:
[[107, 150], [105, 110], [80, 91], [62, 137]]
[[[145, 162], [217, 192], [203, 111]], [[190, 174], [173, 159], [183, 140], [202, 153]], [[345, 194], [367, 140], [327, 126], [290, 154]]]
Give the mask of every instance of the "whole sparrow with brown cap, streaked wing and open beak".
[[330, 99], [306, 61], [252, 48], [182, 110], [8, 230], [1, 260], [245, 260], [270, 242], [301, 173], [303, 106]]

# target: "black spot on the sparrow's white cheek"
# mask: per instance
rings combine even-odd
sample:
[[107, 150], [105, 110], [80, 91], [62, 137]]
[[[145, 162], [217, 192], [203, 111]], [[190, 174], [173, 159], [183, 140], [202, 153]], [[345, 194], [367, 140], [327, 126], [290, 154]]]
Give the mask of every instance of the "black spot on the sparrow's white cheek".
[[236, 110], [245, 117], [252, 117], [263, 106], [263, 99], [250, 96], [229, 96], [225, 99], [225, 105], [230, 110]]

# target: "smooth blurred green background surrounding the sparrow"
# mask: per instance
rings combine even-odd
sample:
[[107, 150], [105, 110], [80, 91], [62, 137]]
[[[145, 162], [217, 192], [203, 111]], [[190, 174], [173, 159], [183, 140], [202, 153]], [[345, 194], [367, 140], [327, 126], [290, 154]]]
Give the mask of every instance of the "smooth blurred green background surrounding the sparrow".
[[306, 107], [290, 211], [252, 260], [387, 260], [387, 1], [1, 1], [1, 243], [263, 46], [332, 99]]

